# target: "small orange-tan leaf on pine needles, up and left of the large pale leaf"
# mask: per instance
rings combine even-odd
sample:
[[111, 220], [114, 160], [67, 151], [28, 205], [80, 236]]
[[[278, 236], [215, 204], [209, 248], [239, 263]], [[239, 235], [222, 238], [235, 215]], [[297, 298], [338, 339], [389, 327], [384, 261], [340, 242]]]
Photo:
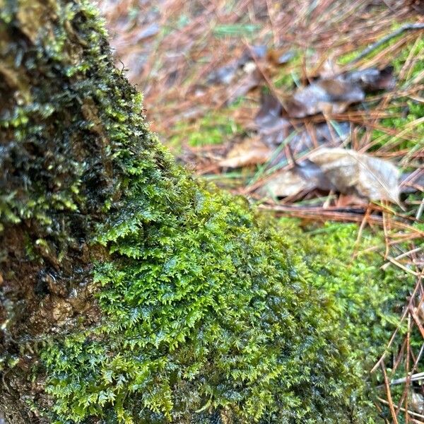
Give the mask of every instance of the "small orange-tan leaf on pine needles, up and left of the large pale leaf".
[[227, 158], [220, 160], [221, 167], [242, 167], [265, 163], [271, 158], [271, 149], [259, 139], [246, 139], [236, 144]]

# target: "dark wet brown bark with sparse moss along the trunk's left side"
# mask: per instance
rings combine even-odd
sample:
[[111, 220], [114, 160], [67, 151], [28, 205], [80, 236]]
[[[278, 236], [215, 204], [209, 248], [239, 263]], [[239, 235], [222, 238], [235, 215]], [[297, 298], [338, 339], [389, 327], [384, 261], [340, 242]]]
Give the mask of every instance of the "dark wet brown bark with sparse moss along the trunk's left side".
[[30, 404], [44, 401], [43, 382], [30, 375], [43, 338], [76, 328], [78, 317], [98, 319], [90, 270], [105, 253], [89, 237], [105, 201], [119, 199], [121, 175], [105, 129], [119, 118], [104, 110], [122, 114], [114, 105], [134, 96], [99, 32], [78, 0], [0, 0], [0, 422], [8, 424], [41, 420]]

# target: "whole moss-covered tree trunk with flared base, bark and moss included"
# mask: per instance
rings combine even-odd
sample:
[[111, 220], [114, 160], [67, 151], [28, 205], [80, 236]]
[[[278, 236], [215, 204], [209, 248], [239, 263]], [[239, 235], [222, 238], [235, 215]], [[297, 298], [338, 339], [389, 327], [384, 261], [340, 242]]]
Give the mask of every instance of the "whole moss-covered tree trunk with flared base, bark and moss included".
[[331, 301], [160, 146], [86, 1], [0, 0], [0, 98], [6, 423], [368, 419]]

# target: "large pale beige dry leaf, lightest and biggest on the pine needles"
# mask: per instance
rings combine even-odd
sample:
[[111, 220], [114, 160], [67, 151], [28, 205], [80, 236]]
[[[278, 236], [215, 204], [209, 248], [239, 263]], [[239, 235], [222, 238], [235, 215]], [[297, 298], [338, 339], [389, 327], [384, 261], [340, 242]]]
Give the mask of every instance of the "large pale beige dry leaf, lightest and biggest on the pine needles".
[[399, 203], [399, 171], [387, 160], [343, 148], [320, 148], [309, 158], [338, 192]]

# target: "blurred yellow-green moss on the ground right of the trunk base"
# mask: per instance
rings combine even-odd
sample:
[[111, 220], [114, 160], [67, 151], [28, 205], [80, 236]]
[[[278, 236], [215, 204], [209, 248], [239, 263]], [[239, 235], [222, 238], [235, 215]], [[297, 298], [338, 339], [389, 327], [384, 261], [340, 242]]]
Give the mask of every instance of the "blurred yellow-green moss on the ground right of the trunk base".
[[413, 278], [396, 267], [379, 269], [382, 233], [365, 231], [358, 242], [358, 225], [327, 223], [306, 233], [293, 227], [290, 234], [302, 245], [312, 285], [334, 298], [351, 345], [361, 346], [355, 354], [360, 354], [365, 369], [372, 367], [399, 323]]

